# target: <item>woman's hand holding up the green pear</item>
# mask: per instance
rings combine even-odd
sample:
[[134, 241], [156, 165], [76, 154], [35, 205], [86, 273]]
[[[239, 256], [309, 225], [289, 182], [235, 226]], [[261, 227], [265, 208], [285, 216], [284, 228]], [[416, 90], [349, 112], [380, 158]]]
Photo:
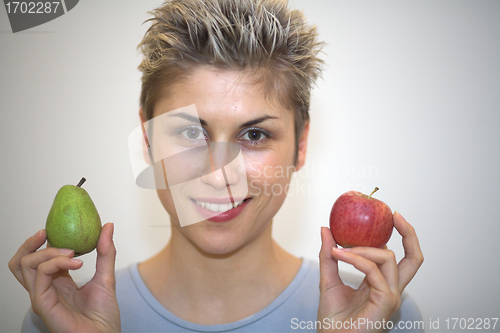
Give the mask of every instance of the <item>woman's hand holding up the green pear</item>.
[[45, 230], [28, 238], [9, 268], [28, 291], [33, 311], [51, 332], [119, 332], [120, 312], [115, 292], [113, 224], [103, 226], [97, 243], [94, 277], [78, 287], [69, 270], [82, 267], [74, 252], [48, 247]]

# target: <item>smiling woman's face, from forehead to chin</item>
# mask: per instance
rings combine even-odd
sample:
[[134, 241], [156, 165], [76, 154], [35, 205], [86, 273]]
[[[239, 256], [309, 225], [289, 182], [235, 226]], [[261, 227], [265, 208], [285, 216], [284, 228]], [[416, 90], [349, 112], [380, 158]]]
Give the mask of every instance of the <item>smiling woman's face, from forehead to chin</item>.
[[[308, 127], [294, 165], [294, 113], [255, 82], [249, 73], [198, 68], [155, 105], [154, 119], [162, 115], [169, 128], [155, 123], [153, 132], [167, 136], [162, 153], [170, 156], [163, 164], [169, 187], [157, 191], [176, 229], [172, 237], [185, 237], [207, 253], [230, 253], [262, 235], [304, 163]], [[227, 151], [231, 157], [221, 161]], [[170, 186], [175, 182], [180, 184]], [[183, 223], [186, 214], [201, 218]]]

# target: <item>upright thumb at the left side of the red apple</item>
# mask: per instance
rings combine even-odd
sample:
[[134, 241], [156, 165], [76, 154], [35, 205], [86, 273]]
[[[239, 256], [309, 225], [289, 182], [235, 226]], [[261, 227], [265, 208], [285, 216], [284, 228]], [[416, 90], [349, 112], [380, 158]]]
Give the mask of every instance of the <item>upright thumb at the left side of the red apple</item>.
[[329, 228], [321, 227], [321, 250], [319, 252], [320, 283], [319, 288], [325, 291], [343, 284], [339, 276], [338, 262], [332, 257], [332, 248], [337, 244]]

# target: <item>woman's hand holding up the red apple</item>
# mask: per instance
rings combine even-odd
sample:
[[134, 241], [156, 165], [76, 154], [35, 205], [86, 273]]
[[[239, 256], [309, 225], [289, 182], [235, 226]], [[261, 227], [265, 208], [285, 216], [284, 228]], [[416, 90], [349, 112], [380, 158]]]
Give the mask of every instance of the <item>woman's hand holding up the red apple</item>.
[[[393, 221], [403, 237], [405, 257], [399, 263], [396, 263], [394, 252], [387, 248], [339, 249], [330, 230], [321, 229], [318, 321], [322, 327], [318, 332], [333, 332], [335, 327], [342, 332], [382, 331], [382, 323], [399, 309], [401, 293], [424, 258], [413, 227], [399, 213], [394, 213]], [[358, 289], [342, 282], [338, 260], [353, 265], [366, 275]], [[368, 327], [368, 322], [375, 325]], [[375, 330], [375, 326], [381, 328]]]

